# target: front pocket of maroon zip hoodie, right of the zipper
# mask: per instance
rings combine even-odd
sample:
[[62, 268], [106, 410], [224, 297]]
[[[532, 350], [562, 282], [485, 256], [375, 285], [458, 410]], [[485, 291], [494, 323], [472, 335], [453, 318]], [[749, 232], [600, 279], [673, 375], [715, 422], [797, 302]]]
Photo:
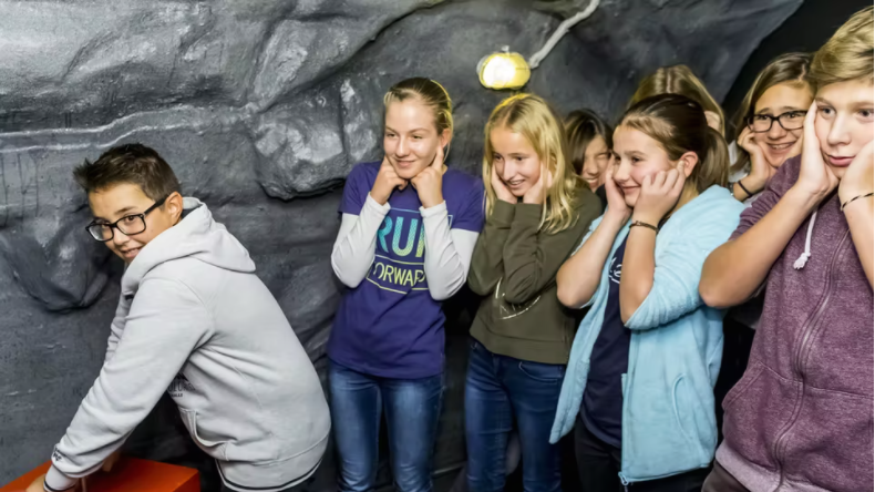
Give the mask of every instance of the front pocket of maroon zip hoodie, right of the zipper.
[[835, 492], [871, 490], [872, 397], [806, 387], [783, 452], [787, 476]]

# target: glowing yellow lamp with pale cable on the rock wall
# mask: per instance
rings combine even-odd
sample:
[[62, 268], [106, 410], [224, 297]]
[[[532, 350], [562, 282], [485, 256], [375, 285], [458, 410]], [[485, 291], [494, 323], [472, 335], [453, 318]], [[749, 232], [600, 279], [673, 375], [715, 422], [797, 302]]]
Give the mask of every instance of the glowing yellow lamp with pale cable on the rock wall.
[[588, 18], [596, 11], [598, 2], [599, 0], [589, 0], [589, 4], [586, 9], [564, 20], [559, 27], [556, 28], [553, 35], [549, 37], [544, 48], [533, 54], [528, 62], [526, 62], [526, 59], [524, 59], [522, 54], [512, 53], [509, 47], [503, 47], [502, 51], [483, 57], [480, 63], [477, 63], [480, 83], [486, 89], [521, 89], [528, 82], [528, 78], [532, 76], [532, 71], [538, 68], [541, 61], [547, 57], [547, 53], [553, 50], [562, 37], [565, 35], [574, 24]]

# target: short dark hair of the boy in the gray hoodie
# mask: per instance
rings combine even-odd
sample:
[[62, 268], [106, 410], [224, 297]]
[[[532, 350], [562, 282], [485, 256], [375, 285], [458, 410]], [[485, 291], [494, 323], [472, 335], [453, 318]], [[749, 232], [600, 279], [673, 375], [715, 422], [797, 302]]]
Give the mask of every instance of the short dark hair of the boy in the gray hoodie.
[[93, 163], [85, 160], [73, 170], [73, 177], [85, 193], [121, 183], [140, 186], [155, 202], [179, 193], [179, 181], [171, 166], [153, 148], [138, 143], [112, 147]]

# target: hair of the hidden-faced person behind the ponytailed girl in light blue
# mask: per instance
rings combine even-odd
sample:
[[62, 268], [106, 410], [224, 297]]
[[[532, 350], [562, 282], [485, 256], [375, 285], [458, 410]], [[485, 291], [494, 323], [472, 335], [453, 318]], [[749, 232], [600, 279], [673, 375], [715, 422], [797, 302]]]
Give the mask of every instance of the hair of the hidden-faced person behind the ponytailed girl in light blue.
[[703, 111], [710, 111], [720, 117], [720, 134], [727, 133], [723, 110], [689, 66], [672, 65], [657, 69], [638, 84], [628, 107], [659, 94], [680, 94], [696, 101]]

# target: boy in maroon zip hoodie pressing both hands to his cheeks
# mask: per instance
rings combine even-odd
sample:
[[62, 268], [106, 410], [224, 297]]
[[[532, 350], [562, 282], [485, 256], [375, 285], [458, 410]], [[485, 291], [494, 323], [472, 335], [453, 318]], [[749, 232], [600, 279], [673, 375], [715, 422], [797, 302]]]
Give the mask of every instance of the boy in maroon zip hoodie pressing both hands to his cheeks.
[[802, 155], [704, 264], [713, 307], [765, 286], [706, 492], [872, 490], [873, 9], [817, 51]]

